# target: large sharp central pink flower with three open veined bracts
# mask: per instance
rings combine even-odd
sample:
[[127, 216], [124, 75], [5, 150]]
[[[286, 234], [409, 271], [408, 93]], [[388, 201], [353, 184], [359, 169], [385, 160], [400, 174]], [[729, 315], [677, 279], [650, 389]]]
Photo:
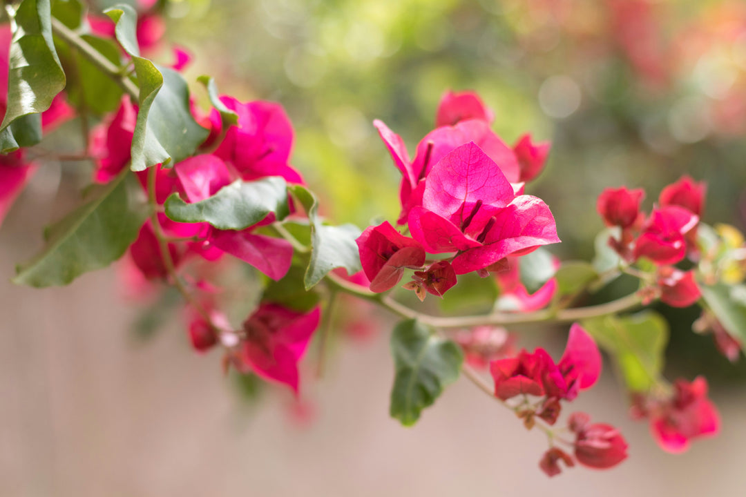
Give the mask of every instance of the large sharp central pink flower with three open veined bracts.
[[548, 206], [530, 195], [515, 197], [500, 168], [474, 143], [433, 167], [422, 203], [410, 210], [410, 232], [429, 253], [458, 252], [452, 262], [457, 274], [560, 241]]

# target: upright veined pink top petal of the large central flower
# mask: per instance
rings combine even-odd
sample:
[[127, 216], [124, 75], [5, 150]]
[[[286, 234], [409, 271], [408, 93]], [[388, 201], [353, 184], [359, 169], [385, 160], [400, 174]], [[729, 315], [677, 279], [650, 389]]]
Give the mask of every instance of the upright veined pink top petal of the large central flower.
[[422, 206], [460, 226], [477, 200], [504, 207], [513, 186], [474, 142], [454, 148], [433, 166], [425, 180]]

